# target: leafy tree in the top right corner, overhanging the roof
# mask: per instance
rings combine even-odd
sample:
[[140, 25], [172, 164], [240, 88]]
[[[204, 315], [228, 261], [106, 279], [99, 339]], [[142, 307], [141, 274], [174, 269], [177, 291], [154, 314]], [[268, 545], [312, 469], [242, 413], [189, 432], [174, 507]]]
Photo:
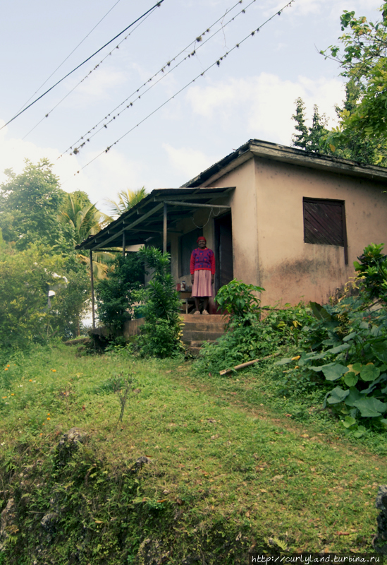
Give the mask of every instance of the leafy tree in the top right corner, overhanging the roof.
[[[339, 126], [326, 137], [325, 143], [333, 151], [348, 143], [352, 134], [380, 142], [387, 139], [387, 2], [380, 11], [381, 20], [372, 23], [345, 10], [340, 16], [343, 51], [331, 45], [321, 52], [338, 61], [342, 76], [352, 81], [360, 93], [354, 107], [342, 109]], [[379, 162], [383, 160], [381, 152]]]

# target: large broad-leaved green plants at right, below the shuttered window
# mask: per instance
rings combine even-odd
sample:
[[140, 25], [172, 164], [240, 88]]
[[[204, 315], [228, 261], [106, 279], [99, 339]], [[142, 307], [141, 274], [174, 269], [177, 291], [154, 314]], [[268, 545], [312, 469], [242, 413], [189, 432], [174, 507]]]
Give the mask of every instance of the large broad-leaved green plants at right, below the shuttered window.
[[[328, 388], [324, 408], [340, 417], [345, 430], [360, 437], [367, 427], [387, 427], [387, 309], [370, 300], [386, 296], [383, 245], [371, 244], [355, 267], [364, 279], [357, 297], [344, 296], [334, 305], [312, 303], [316, 321], [304, 328], [300, 355], [282, 359], [292, 364], [293, 380], [302, 375]], [[359, 424], [362, 424], [360, 427]]]

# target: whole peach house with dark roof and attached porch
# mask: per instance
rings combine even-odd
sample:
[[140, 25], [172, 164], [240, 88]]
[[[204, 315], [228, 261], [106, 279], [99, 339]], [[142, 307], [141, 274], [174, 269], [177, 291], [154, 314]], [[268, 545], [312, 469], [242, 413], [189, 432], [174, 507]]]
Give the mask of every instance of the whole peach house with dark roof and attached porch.
[[204, 234], [216, 290], [264, 287], [262, 304], [324, 303], [354, 275], [364, 246], [387, 242], [387, 169], [252, 139], [178, 189], [156, 189], [78, 248], [171, 251], [176, 283]]

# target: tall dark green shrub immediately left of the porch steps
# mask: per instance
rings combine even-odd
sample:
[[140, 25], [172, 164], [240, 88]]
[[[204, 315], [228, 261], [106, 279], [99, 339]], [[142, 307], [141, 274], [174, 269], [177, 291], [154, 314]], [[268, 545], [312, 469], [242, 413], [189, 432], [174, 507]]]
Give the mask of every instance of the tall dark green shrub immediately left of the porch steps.
[[172, 357], [183, 351], [180, 340], [180, 297], [170, 269], [170, 256], [156, 247], [137, 252], [152, 270], [152, 280], [139, 295], [144, 302], [145, 325], [138, 340], [141, 355]]

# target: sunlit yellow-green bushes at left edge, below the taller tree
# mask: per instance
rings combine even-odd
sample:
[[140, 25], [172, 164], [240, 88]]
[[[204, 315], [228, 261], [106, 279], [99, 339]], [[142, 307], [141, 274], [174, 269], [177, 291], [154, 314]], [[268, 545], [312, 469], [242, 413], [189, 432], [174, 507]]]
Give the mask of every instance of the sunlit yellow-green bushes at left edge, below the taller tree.
[[0, 340], [5, 349], [79, 333], [89, 299], [87, 273], [75, 256], [47, 251], [37, 245], [19, 252], [0, 249]]

